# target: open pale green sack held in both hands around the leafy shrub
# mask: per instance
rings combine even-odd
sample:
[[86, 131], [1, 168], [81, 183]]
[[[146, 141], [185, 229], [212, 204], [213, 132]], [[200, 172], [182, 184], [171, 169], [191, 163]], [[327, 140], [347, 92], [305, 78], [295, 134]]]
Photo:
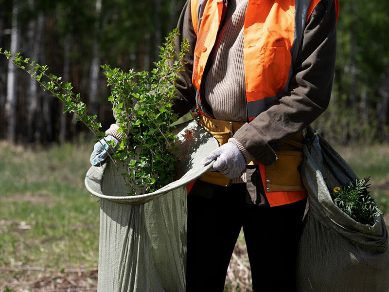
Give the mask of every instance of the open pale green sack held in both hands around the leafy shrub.
[[175, 131], [179, 179], [153, 193], [127, 196], [110, 161], [88, 170], [85, 185], [100, 198], [99, 292], [186, 290], [187, 184], [212, 167], [201, 161], [219, 145], [195, 121]]

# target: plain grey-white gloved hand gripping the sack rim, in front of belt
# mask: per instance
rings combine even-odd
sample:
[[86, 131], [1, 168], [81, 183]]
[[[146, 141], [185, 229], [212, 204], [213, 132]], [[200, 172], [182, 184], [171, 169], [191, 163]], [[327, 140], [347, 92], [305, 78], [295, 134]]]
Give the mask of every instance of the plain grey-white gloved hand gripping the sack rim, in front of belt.
[[204, 165], [210, 164], [213, 160], [213, 169], [224, 174], [226, 178], [233, 179], [242, 174], [246, 168], [246, 161], [243, 153], [232, 142], [223, 144], [213, 150], [210, 155], [201, 162]]

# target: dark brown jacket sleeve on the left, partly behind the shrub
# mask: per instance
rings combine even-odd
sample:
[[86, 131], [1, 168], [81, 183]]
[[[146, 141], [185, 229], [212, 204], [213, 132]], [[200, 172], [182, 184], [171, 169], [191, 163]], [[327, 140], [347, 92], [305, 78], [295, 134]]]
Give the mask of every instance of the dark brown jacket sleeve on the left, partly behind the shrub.
[[196, 90], [192, 84], [192, 72], [197, 37], [192, 24], [191, 0], [186, 1], [178, 19], [177, 28], [180, 35], [176, 39], [176, 51], [179, 52], [180, 44], [184, 38], [186, 38], [190, 44], [189, 52], [184, 57], [184, 62], [186, 62], [185, 70], [180, 73], [180, 77], [177, 79], [177, 99], [173, 105], [173, 110], [178, 116], [183, 116], [196, 104]]

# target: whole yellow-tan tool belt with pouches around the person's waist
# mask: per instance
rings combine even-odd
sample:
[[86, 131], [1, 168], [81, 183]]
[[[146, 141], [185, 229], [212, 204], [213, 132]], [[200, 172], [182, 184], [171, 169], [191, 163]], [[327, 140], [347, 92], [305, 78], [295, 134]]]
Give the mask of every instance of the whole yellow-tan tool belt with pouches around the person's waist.
[[[235, 132], [246, 122], [231, 122], [208, 118], [203, 115], [192, 113], [197, 122], [205, 128], [214, 138], [223, 145], [228, 142]], [[276, 151], [278, 160], [266, 166], [266, 189], [268, 191], [303, 191], [305, 190], [301, 183], [298, 166], [302, 162], [302, 134], [297, 133], [287, 140]], [[259, 164], [254, 160], [248, 165]], [[200, 181], [213, 183], [221, 186], [228, 186], [230, 179], [226, 178], [218, 171], [208, 171], [203, 174]]]

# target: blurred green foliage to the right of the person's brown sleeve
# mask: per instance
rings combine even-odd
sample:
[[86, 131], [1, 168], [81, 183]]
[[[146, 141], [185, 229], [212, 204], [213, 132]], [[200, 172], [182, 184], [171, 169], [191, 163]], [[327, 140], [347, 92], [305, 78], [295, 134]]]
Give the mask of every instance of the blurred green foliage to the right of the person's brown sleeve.
[[389, 2], [339, 3], [332, 99], [315, 127], [333, 143], [387, 142]]

